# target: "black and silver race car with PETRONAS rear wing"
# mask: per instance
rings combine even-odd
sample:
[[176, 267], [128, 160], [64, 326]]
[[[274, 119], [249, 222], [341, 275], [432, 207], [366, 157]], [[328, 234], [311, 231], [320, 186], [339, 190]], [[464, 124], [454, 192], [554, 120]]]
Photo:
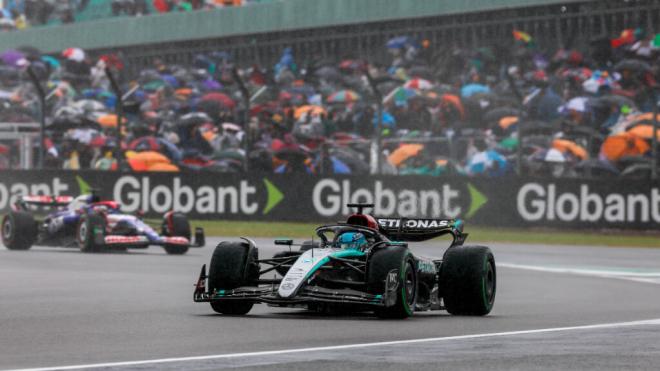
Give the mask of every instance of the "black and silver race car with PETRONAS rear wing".
[[[493, 308], [496, 270], [485, 246], [464, 246], [460, 219], [392, 219], [357, 213], [346, 223], [316, 229], [318, 240], [276, 240], [288, 249], [260, 259], [255, 243], [221, 242], [208, 274], [206, 265], [194, 301], [214, 311], [242, 315], [255, 303], [310, 310], [373, 311], [379, 317], [405, 318], [415, 311], [446, 310], [455, 315], [488, 314]], [[408, 242], [450, 235], [442, 258], [413, 254]], [[279, 276], [265, 278], [277, 272]]]

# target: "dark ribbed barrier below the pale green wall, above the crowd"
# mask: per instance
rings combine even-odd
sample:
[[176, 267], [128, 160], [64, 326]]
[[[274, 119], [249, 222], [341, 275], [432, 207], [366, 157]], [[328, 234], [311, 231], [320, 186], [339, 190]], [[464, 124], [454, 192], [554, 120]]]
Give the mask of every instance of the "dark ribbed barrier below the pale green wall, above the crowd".
[[659, 22], [660, 0], [601, 0], [141, 45], [111, 51], [122, 52], [133, 70], [150, 66], [154, 58], [166, 63], [189, 64], [196, 54], [219, 50], [231, 53], [241, 64], [270, 65], [277, 61], [285, 47], [293, 48], [295, 55], [310, 58], [378, 58], [387, 40], [402, 34], [451, 50], [486, 44], [507, 45], [511, 31], [520, 29], [533, 34], [542, 47], [586, 47], [594, 37], [612, 35], [625, 28], [643, 27], [654, 32]]

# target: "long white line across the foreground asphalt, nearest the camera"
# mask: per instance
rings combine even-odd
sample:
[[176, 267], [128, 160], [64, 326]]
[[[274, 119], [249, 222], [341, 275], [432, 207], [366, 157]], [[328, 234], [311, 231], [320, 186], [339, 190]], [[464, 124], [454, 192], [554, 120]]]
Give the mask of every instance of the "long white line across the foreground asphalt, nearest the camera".
[[[544, 334], [544, 333], [552, 333], [552, 332], [598, 330], [598, 329], [610, 329], [610, 328], [620, 328], [620, 327], [630, 327], [630, 326], [660, 326], [660, 318], [645, 320], [645, 321], [603, 323], [603, 324], [586, 325], [586, 326], [555, 327], [555, 328], [545, 328], [545, 329], [536, 329], [536, 330], [495, 332], [495, 333], [487, 333], [487, 334], [459, 335], [459, 336], [447, 336], [447, 337], [412, 339], [412, 340], [396, 340], [396, 341], [384, 341], [384, 342], [378, 342], [378, 343], [346, 344], [346, 345], [334, 345], [334, 346], [316, 347], [316, 348], [282, 349], [282, 350], [270, 350], [270, 351], [250, 352], [250, 353], [218, 354], [218, 355], [197, 356], [197, 357], [162, 358], [162, 359], [151, 359], [151, 360], [143, 360], [143, 361], [95, 363], [95, 364], [75, 365], [75, 366], [29, 368], [29, 369], [20, 369], [20, 370], [13, 370], [13, 371], [81, 370], [81, 369], [86, 369], [86, 368], [143, 366], [143, 365], [155, 365], [155, 364], [174, 363], [174, 362], [190, 362], [190, 361], [207, 361], [207, 360], [227, 359], [227, 358], [277, 356], [277, 355], [282, 355], [282, 354], [323, 352], [323, 351], [334, 351], [334, 350], [356, 349], [356, 348], [372, 348], [372, 347], [382, 347], [382, 346], [402, 345], [402, 344], [420, 344], [420, 343], [431, 343], [431, 342], [446, 342], [446, 341], [455, 341], [455, 340], [483, 339], [483, 338], [490, 338], [490, 337], [529, 335], [529, 334]], [[185, 369], [185, 366], [183, 366], [182, 368]]]

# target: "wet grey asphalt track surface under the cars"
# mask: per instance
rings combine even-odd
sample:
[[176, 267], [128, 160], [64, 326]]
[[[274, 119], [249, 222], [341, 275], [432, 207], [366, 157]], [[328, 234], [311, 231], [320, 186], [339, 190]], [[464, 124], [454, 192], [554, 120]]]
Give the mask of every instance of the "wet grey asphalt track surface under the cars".
[[[192, 302], [199, 268], [218, 241], [208, 240], [209, 247], [185, 256], [159, 248], [81, 254], [0, 247], [0, 369], [660, 367], [660, 321], [619, 324], [660, 319], [660, 250], [493, 244], [498, 292], [491, 315], [427, 312], [385, 321], [264, 305], [245, 317], [215, 315]], [[277, 251], [268, 242], [258, 241], [261, 256]], [[413, 249], [442, 253], [431, 244]], [[594, 324], [606, 326], [572, 328]], [[538, 329], [553, 330], [520, 333]], [[427, 338], [434, 339], [370, 344]], [[349, 346], [327, 348], [342, 345]], [[321, 349], [291, 352], [306, 348]], [[213, 355], [220, 357], [186, 359]], [[107, 365], [159, 359], [170, 360]]]

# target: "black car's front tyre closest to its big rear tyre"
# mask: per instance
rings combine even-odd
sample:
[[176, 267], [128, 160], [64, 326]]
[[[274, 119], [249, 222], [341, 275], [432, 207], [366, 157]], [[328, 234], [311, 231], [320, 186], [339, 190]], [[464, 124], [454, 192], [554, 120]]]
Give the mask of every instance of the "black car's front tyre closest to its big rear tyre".
[[385, 282], [391, 271], [396, 271], [396, 300], [394, 304], [375, 310], [381, 318], [407, 318], [412, 316], [417, 300], [417, 272], [415, 260], [407, 248], [387, 247], [376, 250], [369, 258], [367, 290], [374, 295], [385, 294]]

